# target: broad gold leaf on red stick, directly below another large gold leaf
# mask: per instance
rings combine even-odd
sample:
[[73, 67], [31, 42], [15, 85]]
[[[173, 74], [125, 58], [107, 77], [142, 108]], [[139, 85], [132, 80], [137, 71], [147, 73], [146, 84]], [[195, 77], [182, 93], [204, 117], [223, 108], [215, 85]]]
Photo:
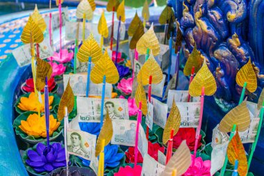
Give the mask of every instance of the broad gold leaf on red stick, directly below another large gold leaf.
[[142, 65], [140, 72], [138, 72], [137, 80], [138, 82], [142, 82], [143, 86], [146, 86], [149, 84], [149, 76], [152, 76], [152, 83], [160, 83], [163, 80], [163, 71], [152, 54], [144, 65]]

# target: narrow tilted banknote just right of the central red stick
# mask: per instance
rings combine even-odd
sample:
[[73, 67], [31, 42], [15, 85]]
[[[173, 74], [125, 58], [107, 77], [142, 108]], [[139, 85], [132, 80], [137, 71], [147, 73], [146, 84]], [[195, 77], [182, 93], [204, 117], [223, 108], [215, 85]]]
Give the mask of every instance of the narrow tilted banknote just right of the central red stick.
[[152, 104], [154, 106], [153, 122], [164, 129], [167, 121], [167, 104], [164, 104], [155, 98], [152, 98]]

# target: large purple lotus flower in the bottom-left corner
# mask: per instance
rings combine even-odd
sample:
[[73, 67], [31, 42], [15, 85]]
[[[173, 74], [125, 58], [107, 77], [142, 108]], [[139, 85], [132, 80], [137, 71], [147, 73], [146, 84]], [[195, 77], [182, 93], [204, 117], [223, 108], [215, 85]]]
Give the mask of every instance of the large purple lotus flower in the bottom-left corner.
[[28, 150], [26, 163], [37, 173], [51, 172], [56, 168], [66, 166], [65, 149], [60, 143], [50, 145], [49, 151], [43, 143], [38, 143], [35, 150]]

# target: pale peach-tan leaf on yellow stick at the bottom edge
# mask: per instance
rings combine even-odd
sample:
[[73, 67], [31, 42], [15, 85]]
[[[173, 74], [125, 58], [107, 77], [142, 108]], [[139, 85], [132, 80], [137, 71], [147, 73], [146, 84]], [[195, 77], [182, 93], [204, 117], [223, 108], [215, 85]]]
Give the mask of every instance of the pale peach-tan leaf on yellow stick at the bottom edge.
[[176, 176], [183, 175], [191, 164], [191, 155], [186, 141], [182, 141], [172, 158], [165, 166], [160, 176], [171, 176], [173, 170], [177, 170]]

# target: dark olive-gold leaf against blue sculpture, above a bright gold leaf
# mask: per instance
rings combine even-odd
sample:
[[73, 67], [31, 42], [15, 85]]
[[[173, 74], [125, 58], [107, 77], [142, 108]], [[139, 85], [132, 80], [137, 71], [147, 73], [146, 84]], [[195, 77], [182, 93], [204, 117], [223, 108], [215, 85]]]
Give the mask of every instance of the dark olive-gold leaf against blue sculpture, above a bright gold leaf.
[[193, 66], [195, 67], [195, 73], [197, 73], [203, 64], [203, 61], [204, 57], [201, 55], [201, 52], [197, 49], [195, 44], [192, 53], [189, 55], [188, 60], [185, 63], [183, 74], [189, 76], [192, 73]]

